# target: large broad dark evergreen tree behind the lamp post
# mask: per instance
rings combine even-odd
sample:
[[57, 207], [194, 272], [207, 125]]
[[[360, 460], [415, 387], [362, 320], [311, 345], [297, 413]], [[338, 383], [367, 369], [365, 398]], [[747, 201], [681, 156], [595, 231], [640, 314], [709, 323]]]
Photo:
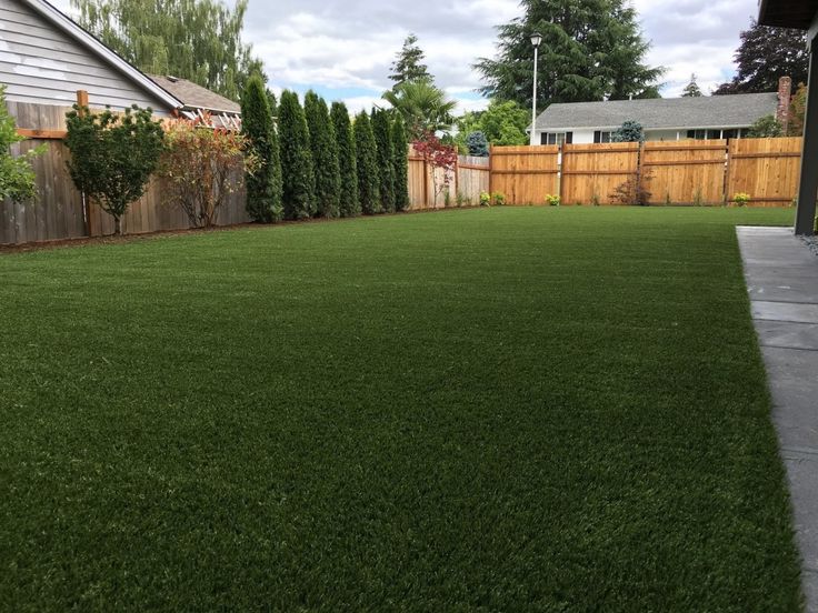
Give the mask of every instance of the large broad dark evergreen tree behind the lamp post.
[[[626, 0], [522, 0], [523, 16], [499, 27], [499, 53], [476, 67], [487, 98], [531, 107], [533, 49], [542, 34], [537, 102], [627, 100], [656, 97], [664, 69], [645, 63], [636, 10]], [[545, 107], [543, 107], [545, 104]]]

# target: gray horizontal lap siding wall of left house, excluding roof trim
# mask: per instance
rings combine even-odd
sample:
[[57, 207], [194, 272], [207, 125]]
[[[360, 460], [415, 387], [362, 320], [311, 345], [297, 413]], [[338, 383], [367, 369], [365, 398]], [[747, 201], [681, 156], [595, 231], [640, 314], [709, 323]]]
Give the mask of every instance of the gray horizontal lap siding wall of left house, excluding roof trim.
[[77, 90], [91, 107], [131, 104], [168, 114], [166, 103], [18, 0], [0, 0], [0, 83], [9, 101], [70, 107]]

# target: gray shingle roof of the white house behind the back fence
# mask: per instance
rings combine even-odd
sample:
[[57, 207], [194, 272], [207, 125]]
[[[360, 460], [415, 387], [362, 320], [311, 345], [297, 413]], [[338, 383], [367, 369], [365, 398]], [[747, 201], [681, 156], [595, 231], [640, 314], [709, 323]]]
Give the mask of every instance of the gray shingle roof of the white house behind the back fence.
[[777, 93], [573, 102], [548, 107], [537, 118], [537, 130], [616, 129], [628, 120], [646, 130], [747, 128], [777, 107]]

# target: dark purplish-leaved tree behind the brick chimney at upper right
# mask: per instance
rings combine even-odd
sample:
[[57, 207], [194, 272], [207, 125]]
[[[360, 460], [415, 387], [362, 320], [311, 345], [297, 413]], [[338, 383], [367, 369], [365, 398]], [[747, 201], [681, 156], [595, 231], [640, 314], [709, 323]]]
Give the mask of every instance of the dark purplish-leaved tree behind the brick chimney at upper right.
[[741, 32], [735, 59], [736, 77], [719, 86], [714, 96], [778, 91], [781, 77], [791, 77], [794, 83], [806, 83], [809, 72], [807, 33], [759, 26], [754, 19], [750, 29]]

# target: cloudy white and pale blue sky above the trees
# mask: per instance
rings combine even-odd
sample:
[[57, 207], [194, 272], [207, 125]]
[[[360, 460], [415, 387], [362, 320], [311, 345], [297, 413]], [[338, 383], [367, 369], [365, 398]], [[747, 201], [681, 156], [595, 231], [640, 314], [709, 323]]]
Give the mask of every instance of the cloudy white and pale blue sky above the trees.
[[[54, 3], [68, 9], [69, 0]], [[757, 0], [631, 0], [639, 12], [650, 66], [667, 69], [662, 96], [677, 97], [691, 73], [705, 93], [729, 80], [739, 33]], [[316, 90], [369, 108], [391, 87], [388, 76], [413, 32], [439, 87], [459, 110], [488, 103], [471, 68], [495, 56], [495, 27], [519, 17], [519, 0], [250, 0], [245, 38], [265, 62], [273, 91]]]

